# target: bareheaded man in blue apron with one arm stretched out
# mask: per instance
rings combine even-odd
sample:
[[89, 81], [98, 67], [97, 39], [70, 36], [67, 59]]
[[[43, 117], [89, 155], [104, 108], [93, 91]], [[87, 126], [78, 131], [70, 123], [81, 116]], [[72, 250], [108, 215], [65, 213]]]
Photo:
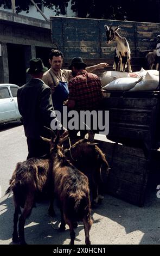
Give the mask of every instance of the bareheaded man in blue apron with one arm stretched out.
[[[73, 77], [72, 71], [61, 69], [63, 63], [63, 54], [59, 50], [52, 50], [49, 54], [49, 63], [51, 68], [43, 74], [42, 80], [52, 90], [52, 100], [55, 110], [62, 111], [63, 102], [68, 99], [68, 82]], [[99, 63], [87, 68], [87, 72], [95, 69], [104, 69], [107, 63]]]

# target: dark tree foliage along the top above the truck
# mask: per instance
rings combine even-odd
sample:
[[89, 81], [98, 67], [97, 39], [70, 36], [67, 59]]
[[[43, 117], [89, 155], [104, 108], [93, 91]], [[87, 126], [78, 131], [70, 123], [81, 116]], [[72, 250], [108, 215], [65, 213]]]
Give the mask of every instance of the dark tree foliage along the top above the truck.
[[[65, 14], [65, 8], [69, 0], [34, 0], [35, 3], [43, 3], [56, 12], [57, 15]], [[0, 0], [2, 4], [8, 5], [11, 0]], [[16, 11], [28, 11], [30, 0], [16, 0]], [[77, 17], [88, 17], [91, 19], [111, 19], [159, 22], [160, 0], [71, 0], [72, 10]]]

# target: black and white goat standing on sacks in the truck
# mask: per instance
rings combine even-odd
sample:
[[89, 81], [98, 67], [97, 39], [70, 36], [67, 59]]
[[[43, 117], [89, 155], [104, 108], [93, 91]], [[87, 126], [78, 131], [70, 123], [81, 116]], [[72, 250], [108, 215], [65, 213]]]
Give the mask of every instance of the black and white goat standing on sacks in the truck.
[[113, 68], [116, 66], [116, 71], [124, 72], [127, 64], [129, 72], [132, 72], [131, 63], [130, 63], [130, 60], [131, 60], [130, 46], [126, 38], [124, 36], [120, 36], [117, 33], [119, 28], [120, 26], [112, 29], [112, 26], [108, 28], [108, 26], [105, 25], [107, 44], [110, 44], [112, 41], [116, 41]]

